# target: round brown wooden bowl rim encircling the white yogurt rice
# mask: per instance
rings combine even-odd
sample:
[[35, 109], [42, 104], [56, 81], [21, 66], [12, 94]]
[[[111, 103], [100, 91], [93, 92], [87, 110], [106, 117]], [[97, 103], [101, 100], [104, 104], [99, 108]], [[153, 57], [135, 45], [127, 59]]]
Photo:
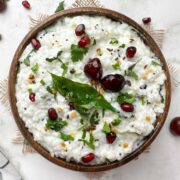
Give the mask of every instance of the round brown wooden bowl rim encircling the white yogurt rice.
[[[134, 152], [132, 152], [131, 154], [129, 154], [128, 156], [126, 156], [124, 159], [122, 159], [120, 161], [115, 161], [112, 163], [102, 164], [102, 165], [93, 165], [93, 166], [77, 164], [75, 162], [66, 162], [65, 160], [63, 160], [61, 158], [51, 157], [50, 153], [46, 149], [44, 149], [40, 144], [38, 144], [37, 142], [34, 141], [33, 135], [25, 127], [25, 124], [22, 121], [22, 119], [20, 118], [17, 107], [16, 107], [16, 96], [15, 96], [16, 76], [17, 76], [18, 67], [19, 67], [18, 60], [19, 60], [22, 52], [26, 48], [26, 46], [30, 43], [31, 39], [33, 37], [35, 37], [38, 32], [43, 30], [45, 27], [53, 24], [61, 17], [84, 15], [84, 14], [90, 15], [90, 16], [93, 16], [93, 15], [106, 16], [115, 21], [123, 21], [123, 22], [129, 24], [130, 26], [134, 27], [137, 30], [137, 32], [139, 33], [139, 35], [144, 39], [144, 42], [151, 48], [151, 50], [156, 54], [156, 56], [162, 62], [163, 69], [164, 69], [166, 77], [167, 77], [166, 84], [165, 84], [165, 86], [166, 86], [165, 110], [164, 110], [164, 113], [157, 118], [157, 123], [155, 124], [155, 129], [146, 138], [146, 141], [138, 149], [136, 149]], [[167, 114], [168, 114], [170, 99], [171, 99], [171, 85], [170, 85], [170, 75], [169, 75], [168, 67], [167, 67], [166, 61], [164, 59], [164, 56], [162, 55], [162, 53], [161, 53], [159, 47], [157, 46], [157, 44], [155, 43], [155, 41], [139, 24], [134, 22], [132, 19], [130, 19], [120, 13], [117, 13], [117, 12], [114, 12], [111, 10], [107, 10], [107, 9], [102, 9], [102, 8], [89, 8], [89, 7], [88, 8], [74, 8], [74, 9], [65, 10], [65, 11], [56, 13], [56, 14], [50, 16], [49, 18], [45, 19], [42, 23], [40, 23], [32, 31], [30, 31], [26, 35], [26, 37], [23, 39], [23, 41], [20, 43], [20, 45], [15, 53], [13, 62], [11, 64], [10, 72], [9, 72], [9, 100], [10, 100], [10, 104], [11, 104], [11, 110], [13, 112], [16, 123], [17, 123], [21, 133], [24, 135], [25, 139], [28, 140], [30, 145], [39, 154], [44, 156], [49, 161], [51, 161], [59, 166], [62, 166], [62, 167], [68, 168], [68, 169], [72, 169], [72, 170], [76, 170], [76, 171], [97, 172], [97, 171], [109, 170], [109, 169], [121, 166], [121, 165], [131, 161], [132, 159], [136, 158], [137, 156], [139, 156], [152, 143], [152, 141], [156, 138], [159, 131], [161, 130], [161, 128], [165, 122], [165, 119], [167, 117]]]

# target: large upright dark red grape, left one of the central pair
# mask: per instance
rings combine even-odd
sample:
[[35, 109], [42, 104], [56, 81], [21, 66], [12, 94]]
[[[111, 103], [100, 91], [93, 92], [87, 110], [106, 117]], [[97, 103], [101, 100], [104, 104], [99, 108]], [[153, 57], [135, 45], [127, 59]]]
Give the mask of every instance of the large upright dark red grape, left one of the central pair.
[[102, 77], [102, 65], [98, 58], [90, 59], [84, 66], [85, 74], [93, 80], [100, 80]]

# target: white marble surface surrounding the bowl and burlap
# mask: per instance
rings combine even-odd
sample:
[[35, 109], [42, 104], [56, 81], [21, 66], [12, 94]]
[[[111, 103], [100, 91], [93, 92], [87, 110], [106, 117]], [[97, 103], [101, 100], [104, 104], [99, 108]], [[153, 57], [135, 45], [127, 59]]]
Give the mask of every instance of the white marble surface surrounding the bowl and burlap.
[[[52, 14], [59, 0], [29, 0], [32, 10], [21, 6], [21, 0], [10, 0], [8, 9], [0, 14], [0, 79], [8, 75], [13, 54], [29, 29], [29, 15]], [[66, 0], [66, 5], [73, 3]], [[167, 61], [180, 68], [180, 1], [179, 0], [101, 0], [110, 9], [117, 10], [137, 22], [143, 17], [152, 17], [153, 25], [166, 30], [163, 53]], [[157, 139], [151, 145], [150, 153], [127, 165], [100, 173], [93, 179], [103, 180], [179, 180], [180, 179], [180, 137], [169, 133], [169, 122], [180, 116], [179, 87], [173, 91], [172, 103], [167, 121]], [[25, 180], [89, 180], [86, 173], [74, 172], [58, 167], [38, 154], [22, 154], [21, 146], [11, 143], [17, 129], [12, 116], [0, 105], [0, 146], [19, 169]], [[8, 179], [5, 179], [8, 180]]]

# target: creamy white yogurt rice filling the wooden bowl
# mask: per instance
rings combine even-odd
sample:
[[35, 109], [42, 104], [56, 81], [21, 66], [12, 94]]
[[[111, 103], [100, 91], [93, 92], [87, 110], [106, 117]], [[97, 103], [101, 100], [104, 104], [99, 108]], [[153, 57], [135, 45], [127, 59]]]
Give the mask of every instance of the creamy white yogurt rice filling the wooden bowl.
[[[74, 29], [78, 24], [85, 25], [89, 37], [96, 39], [96, 45], [90, 47], [82, 61], [73, 63], [71, 61], [70, 47], [72, 44], [78, 44], [79, 37], [74, 33]], [[144, 44], [132, 29], [126, 23], [120, 24], [100, 16], [66, 17], [38, 34], [37, 38], [41, 43], [41, 48], [32, 53], [29, 59], [30, 66], [26, 66], [23, 61], [33, 48], [31, 44], [26, 47], [19, 59], [21, 64], [16, 84], [17, 107], [20, 117], [33, 134], [35, 141], [45, 147], [52, 156], [82, 163], [81, 158], [92, 152], [95, 154], [95, 159], [90, 164], [120, 160], [142, 144], [143, 138], [154, 129], [156, 116], [164, 111], [165, 102], [162, 99], [165, 98], [166, 77], [161, 65], [152, 64], [152, 61], [161, 64], [159, 59], [155, 57], [150, 48]], [[111, 38], [116, 38], [118, 43], [110, 44]], [[125, 44], [125, 47], [119, 48], [122, 44]], [[125, 58], [126, 48], [129, 46], [137, 48], [137, 53], [132, 59]], [[99, 48], [102, 51], [101, 56], [97, 54]], [[107, 48], [112, 50], [108, 51]], [[135, 133], [117, 134], [113, 144], [108, 144], [106, 135], [102, 132], [103, 125], [105, 122], [111, 123], [118, 118], [119, 114], [105, 111], [105, 116], [100, 115], [99, 124], [92, 131], [94, 138], [98, 140], [94, 143], [95, 149], [93, 150], [84, 145], [83, 142], [78, 141], [82, 136], [82, 131], [78, 130], [82, 126], [80, 114], [76, 110], [70, 111], [68, 102], [59, 93], [55, 100], [54, 96], [46, 90], [46, 86], [52, 86], [52, 78], [49, 72], [59, 76], [63, 73], [59, 61], [53, 61], [52, 63], [46, 61], [46, 58], [55, 57], [59, 51], [63, 51], [61, 55], [62, 61], [69, 63], [65, 77], [89, 85], [90, 80], [83, 71], [84, 65], [89, 58], [98, 57], [101, 60], [103, 76], [115, 73], [124, 75], [128, 67], [138, 62], [133, 70], [139, 79], [135, 80], [132, 77], [125, 76], [126, 80], [131, 81], [131, 86], [126, 85], [122, 90], [122, 92], [128, 92], [136, 96], [136, 101], [133, 103], [134, 112], [127, 113], [120, 108], [116, 101], [118, 93], [104, 92], [103, 94], [105, 99], [120, 111], [122, 122], [114, 129], [118, 132], [130, 131]], [[116, 63], [117, 58], [120, 62], [120, 68], [115, 70], [112, 65]], [[36, 73], [33, 73], [31, 68], [36, 63], [38, 63], [39, 69]], [[75, 74], [70, 73], [71, 69], [75, 69]], [[30, 74], [34, 75], [35, 83], [28, 81]], [[44, 86], [40, 83], [42, 79], [46, 83]], [[141, 89], [140, 87], [144, 85], [146, 88]], [[28, 89], [31, 89], [36, 94], [35, 102], [29, 100]], [[144, 104], [142, 99], [139, 98], [142, 96], [144, 97]], [[59, 137], [60, 132], [45, 128], [48, 119], [47, 112], [51, 107], [62, 109], [58, 116], [66, 120], [68, 125], [61, 132], [71, 134], [74, 137], [73, 141], [64, 141]], [[67, 115], [71, 117], [73, 112], [77, 114], [77, 117], [74, 119], [67, 118]], [[89, 133], [87, 132], [87, 140], [89, 139], [88, 136]]]

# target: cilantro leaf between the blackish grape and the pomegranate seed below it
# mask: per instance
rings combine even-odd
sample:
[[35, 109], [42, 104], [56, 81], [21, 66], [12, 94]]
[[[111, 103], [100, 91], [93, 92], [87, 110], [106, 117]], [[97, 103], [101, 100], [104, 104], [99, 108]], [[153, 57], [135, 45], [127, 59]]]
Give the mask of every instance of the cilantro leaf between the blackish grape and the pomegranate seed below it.
[[133, 94], [120, 92], [119, 96], [117, 97], [117, 102], [119, 104], [123, 104], [123, 103], [132, 104], [134, 101], [135, 101], [135, 96]]

